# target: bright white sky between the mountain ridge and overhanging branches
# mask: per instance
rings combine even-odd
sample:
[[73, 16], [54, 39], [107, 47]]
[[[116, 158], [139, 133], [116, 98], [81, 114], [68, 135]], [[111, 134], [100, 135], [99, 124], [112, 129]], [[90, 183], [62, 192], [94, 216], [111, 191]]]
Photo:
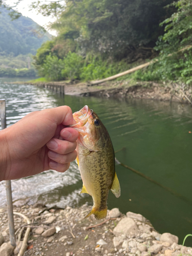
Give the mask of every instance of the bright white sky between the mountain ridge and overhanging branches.
[[[16, 0], [7, 0], [6, 4], [9, 6], [14, 5], [14, 3], [16, 2]], [[52, 35], [56, 35], [56, 31], [55, 30], [49, 30], [47, 28], [47, 25], [50, 22], [54, 22], [54, 18], [51, 17], [45, 17], [42, 16], [41, 14], [37, 14], [34, 10], [29, 11], [29, 5], [34, 2], [34, 0], [23, 0], [22, 2], [20, 2], [20, 4], [17, 6], [17, 10], [22, 13], [22, 15], [27, 16], [31, 19], [34, 20], [34, 22], [36, 22], [37, 24], [39, 24], [40, 26], [44, 27], [46, 30], [49, 31], [50, 34]], [[42, 3], [45, 3], [46, 1], [41, 1]]]

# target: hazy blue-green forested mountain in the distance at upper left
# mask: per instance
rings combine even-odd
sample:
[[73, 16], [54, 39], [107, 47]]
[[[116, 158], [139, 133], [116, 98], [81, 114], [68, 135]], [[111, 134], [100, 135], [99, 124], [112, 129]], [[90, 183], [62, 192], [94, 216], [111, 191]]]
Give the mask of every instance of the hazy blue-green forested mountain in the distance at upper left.
[[43, 32], [31, 18], [20, 16], [11, 20], [9, 12], [0, 7], [0, 53], [13, 56], [35, 54], [42, 42], [51, 39], [52, 36]]

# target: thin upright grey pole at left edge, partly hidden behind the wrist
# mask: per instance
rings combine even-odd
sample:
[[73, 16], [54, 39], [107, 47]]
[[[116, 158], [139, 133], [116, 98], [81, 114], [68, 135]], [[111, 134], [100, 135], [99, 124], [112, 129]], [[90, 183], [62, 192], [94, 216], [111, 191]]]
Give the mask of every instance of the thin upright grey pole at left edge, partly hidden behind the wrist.
[[[0, 100], [0, 116], [2, 123], [2, 130], [6, 128], [6, 106], [5, 100]], [[9, 221], [9, 238], [11, 245], [15, 247], [15, 228], [13, 219], [13, 203], [11, 194], [11, 181], [6, 180], [6, 194], [7, 194], [7, 210], [8, 210], [8, 221]]]

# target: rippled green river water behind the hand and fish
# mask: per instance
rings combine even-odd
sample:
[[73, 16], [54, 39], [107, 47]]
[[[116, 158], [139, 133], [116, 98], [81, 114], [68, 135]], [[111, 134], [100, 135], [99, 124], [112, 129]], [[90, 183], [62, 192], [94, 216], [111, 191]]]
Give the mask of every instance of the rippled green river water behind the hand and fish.
[[[7, 125], [26, 114], [69, 105], [73, 112], [84, 105], [93, 109], [108, 129], [116, 158], [167, 189], [116, 165], [121, 197], [110, 192], [108, 208], [118, 207], [124, 214], [137, 212], [149, 219], [160, 233], [170, 232], [182, 243], [192, 225], [191, 185], [191, 106], [140, 99], [102, 99], [65, 95], [23, 84], [8, 84], [0, 79], [0, 98], [6, 99]], [[82, 182], [78, 167], [71, 163], [62, 174], [49, 170], [42, 174], [12, 181], [13, 201], [28, 204], [46, 202], [59, 207], [92, 205], [87, 194], [78, 195]], [[6, 204], [5, 182], [0, 182], [0, 206]]]

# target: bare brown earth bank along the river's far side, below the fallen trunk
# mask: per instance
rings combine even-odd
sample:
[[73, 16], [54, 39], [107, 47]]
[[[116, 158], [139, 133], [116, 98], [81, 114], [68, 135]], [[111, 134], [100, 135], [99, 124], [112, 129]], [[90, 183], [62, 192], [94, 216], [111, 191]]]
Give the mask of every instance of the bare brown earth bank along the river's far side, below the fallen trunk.
[[113, 97], [113, 98], [139, 98], [161, 101], [176, 101], [181, 103], [192, 103], [192, 89], [189, 86], [179, 86], [172, 82], [133, 82], [131, 80], [112, 81], [89, 86], [88, 83], [67, 82], [39, 82], [30, 83], [35, 86], [48, 88], [53, 86], [64, 86], [65, 94], [77, 96]]

